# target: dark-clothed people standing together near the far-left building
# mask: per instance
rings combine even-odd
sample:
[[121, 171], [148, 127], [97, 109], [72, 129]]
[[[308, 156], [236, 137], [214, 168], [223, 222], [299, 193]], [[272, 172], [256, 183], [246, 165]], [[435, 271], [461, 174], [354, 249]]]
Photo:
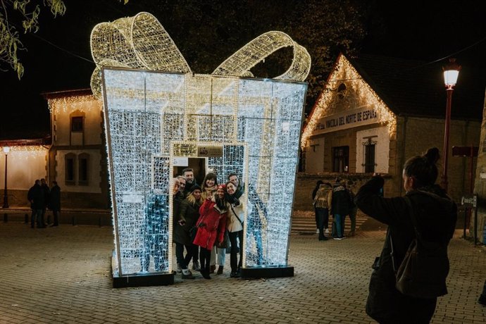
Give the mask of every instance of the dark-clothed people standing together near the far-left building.
[[30, 228], [46, 228], [44, 221], [46, 208], [51, 209], [54, 216], [52, 227], [59, 225], [59, 211], [61, 211], [61, 188], [56, 181], [52, 182], [52, 188], [49, 189], [44, 178], [35, 180], [35, 183], [27, 192], [27, 200], [30, 202], [32, 216], [30, 217]]

